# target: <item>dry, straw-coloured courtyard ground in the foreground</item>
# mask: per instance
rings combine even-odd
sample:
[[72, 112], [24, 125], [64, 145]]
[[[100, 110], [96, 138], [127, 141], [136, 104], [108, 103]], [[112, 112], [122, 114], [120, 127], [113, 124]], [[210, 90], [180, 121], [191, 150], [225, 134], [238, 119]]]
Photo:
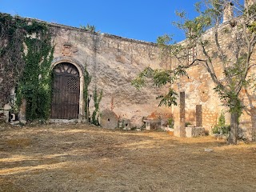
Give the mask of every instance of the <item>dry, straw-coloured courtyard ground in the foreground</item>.
[[86, 125], [0, 126], [0, 191], [256, 191], [256, 144]]

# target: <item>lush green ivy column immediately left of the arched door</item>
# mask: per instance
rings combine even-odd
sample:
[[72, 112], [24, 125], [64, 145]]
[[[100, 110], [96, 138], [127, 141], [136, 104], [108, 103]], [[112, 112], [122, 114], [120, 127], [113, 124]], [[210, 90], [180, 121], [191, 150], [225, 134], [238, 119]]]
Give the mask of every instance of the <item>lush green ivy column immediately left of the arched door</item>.
[[[26, 98], [26, 119], [47, 119], [50, 116], [51, 104], [51, 73], [50, 64], [53, 60], [54, 46], [51, 45], [50, 33], [42, 23], [32, 22], [25, 26], [26, 54], [22, 78], [18, 82], [18, 102]], [[35, 38], [28, 34], [35, 33]]]

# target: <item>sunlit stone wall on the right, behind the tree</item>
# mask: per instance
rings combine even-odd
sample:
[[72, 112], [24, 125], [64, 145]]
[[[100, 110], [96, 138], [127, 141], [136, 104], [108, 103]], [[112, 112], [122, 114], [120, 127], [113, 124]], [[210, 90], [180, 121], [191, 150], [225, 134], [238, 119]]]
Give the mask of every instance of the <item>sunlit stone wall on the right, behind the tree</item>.
[[[223, 24], [220, 28], [220, 32], [224, 27], [229, 24]], [[222, 34], [220, 43], [222, 46], [228, 46], [230, 42], [230, 34]], [[204, 38], [210, 42], [214, 41], [213, 30], [208, 30], [204, 34]], [[186, 43], [181, 42], [181, 43]], [[214, 52], [217, 48], [214, 43], [211, 44], [207, 49]], [[256, 50], [255, 50], [256, 52]], [[252, 55], [252, 62], [255, 62], [256, 53]], [[197, 58], [204, 58], [200, 47], [194, 47], [194, 54], [197, 54]], [[178, 62], [173, 59], [171, 66], [177, 66]], [[186, 65], [186, 63], [184, 63]], [[222, 77], [223, 71], [218, 58], [214, 58], [214, 70], [218, 78]], [[190, 122], [196, 126], [198, 115], [196, 114], [196, 106], [202, 107], [202, 127], [208, 130], [211, 134], [211, 129], [218, 123], [218, 117], [223, 112], [226, 112], [226, 124], [230, 124], [230, 114], [227, 112], [227, 108], [223, 106], [223, 102], [220, 101], [218, 94], [214, 91], [216, 86], [210, 74], [207, 72], [203, 64], [192, 66], [186, 70], [189, 78], [180, 78], [174, 89], [178, 92], [185, 92], [185, 122]], [[256, 73], [256, 67], [250, 69], [250, 74]], [[256, 93], [253, 90], [242, 90], [239, 97], [242, 100], [243, 106], [242, 116], [239, 118], [239, 137], [249, 138], [250, 140], [256, 139]], [[178, 106], [174, 106], [174, 127], [179, 130], [180, 125], [180, 103]], [[178, 133], [179, 134], [179, 133]]]

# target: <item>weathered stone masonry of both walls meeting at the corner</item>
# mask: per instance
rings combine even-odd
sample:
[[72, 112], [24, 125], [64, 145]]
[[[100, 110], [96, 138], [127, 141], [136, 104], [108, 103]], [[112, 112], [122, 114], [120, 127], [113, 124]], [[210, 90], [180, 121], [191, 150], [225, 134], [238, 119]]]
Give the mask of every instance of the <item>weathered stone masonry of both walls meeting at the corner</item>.
[[[176, 130], [182, 126], [181, 119], [182, 122], [190, 122], [206, 130], [211, 130], [217, 123], [223, 107], [213, 90], [214, 83], [203, 66], [191, 67], [187, 70], [190, 78], [181, 78], [174, 85], [178, 93], [184, 93], [181, 100], [182, 110], [179, 102], [178, 106], [170, 108], [158, 107], [158, 101], [155, 98], [165, 92], [165, 89], [144, 87], [142, 90], [136, 90], [134, 86], [131, 86], [131, 80], [146, 66], [153, 69], [175, 67], [174, 59], [172, 62], [164, 62], [159, 58], [156, 44], [110, 34], [90, 33], [86, 30], [53, 23], [49, 23], [49, 26], [53, 31], [52, 39], [55, 46], [52, 68], [62, 63], [70, 63], [77, 68], [79, 73], [79, 122], [83, 122], [85, 118], [83, 89], [84, 70], [86, 69], [92, 77], [89, 94], [93, 94], [95, 86], [98, 90], [102, 90], [100, 111], [112, 110], [120, 122], [126, 120], [131, 127], [141, 127], [142, 118], [152, 113], [159, 116], [172, 114]], [[206, 33], [207, 35], [210, 38], [210, 30]], [[228, 38], [223, 37], [222, 43], [226, 43], [225, 41], [228, 41]], [[218, 69], [218, 61], [216, 61], [216, 66]], [[256, 95], [248, 90], [242, 90], [241, 97], [246, 109], [240, 118], [240, 126], [242, 130], [245, 130], [245, 137], [253, 139], [256, 133]], [[185, 106], [183, 99], [185, 99]], [[91, 98], [90, 114], [93, 110]], [[184, 135], [179, 131], [175, 134]]]

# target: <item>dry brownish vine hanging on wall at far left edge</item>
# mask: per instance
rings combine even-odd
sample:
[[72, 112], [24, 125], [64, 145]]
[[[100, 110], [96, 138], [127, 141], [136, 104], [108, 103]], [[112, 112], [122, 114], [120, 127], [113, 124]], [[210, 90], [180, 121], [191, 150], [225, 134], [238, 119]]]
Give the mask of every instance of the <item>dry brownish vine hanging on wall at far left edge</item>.
[[26, 31], [19, 18], [0, 14], [0, 106], [9, 102], [10, 90], [17, 85], [25, 61], [22, 59]]

